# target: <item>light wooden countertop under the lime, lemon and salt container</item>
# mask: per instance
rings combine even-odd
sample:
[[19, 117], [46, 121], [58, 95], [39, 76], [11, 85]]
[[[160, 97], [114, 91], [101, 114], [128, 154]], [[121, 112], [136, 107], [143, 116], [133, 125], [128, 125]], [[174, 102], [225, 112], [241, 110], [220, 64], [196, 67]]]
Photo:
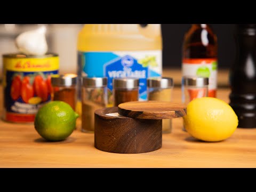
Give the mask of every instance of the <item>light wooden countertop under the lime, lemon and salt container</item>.
[[[229, 102], [229, 92], [219, 89], [218, 98]], [[175, 87], [174, 101], [180, 94]], [[2, 109], [2, 89], [0, 101]], [[0, 167], [256, 167], [255, 129], [237, 129], [222, 142], [201, 142], [182, 131], [182, 118], [173, 119], [173, 132], [163, 135], [157, 151], [111, 154], [93, 145], [94, 135], [80, 130], [65, 141], [46, 142], [33, 125], [0, 121]]]

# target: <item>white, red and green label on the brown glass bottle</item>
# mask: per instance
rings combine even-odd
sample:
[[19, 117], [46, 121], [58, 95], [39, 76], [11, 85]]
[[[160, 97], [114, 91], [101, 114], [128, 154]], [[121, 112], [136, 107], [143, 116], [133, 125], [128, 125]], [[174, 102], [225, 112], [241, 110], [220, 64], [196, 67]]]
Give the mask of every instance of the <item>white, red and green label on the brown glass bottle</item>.
[[182, 75], [208, 77], [208, 96], [216, 97], [218, 75], [217, 59], [183, 59]]

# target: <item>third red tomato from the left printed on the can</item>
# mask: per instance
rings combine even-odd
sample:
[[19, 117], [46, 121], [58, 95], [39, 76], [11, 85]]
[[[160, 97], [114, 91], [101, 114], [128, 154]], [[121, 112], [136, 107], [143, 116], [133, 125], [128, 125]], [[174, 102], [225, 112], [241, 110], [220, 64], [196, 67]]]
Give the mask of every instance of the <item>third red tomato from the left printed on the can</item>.
[[47, 101], [48, 87], [41, 75], [37, 75], [34, 78], [33, 87], [37, 97], [40, 97], [42, 101]]

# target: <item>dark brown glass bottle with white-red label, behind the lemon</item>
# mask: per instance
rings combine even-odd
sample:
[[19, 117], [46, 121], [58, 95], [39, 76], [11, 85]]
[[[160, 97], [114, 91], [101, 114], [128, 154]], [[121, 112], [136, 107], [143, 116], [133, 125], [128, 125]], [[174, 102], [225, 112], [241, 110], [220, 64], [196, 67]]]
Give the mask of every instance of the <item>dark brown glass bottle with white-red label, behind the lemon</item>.
[[193, 24], [185, 34], [182, 50], [182, 75], [209, 78], [209, 97], [217, 95], [217, 35], [209, 24]]

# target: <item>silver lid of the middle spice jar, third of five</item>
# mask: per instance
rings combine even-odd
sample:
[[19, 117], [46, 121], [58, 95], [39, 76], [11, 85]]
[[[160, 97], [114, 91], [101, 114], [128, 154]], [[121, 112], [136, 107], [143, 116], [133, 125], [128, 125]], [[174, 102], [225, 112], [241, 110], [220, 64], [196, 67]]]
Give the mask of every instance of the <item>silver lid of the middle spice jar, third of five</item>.
[[138, 78], [114, 78], [113, 88], [114, 89], [134, 89], [139, 87]]

